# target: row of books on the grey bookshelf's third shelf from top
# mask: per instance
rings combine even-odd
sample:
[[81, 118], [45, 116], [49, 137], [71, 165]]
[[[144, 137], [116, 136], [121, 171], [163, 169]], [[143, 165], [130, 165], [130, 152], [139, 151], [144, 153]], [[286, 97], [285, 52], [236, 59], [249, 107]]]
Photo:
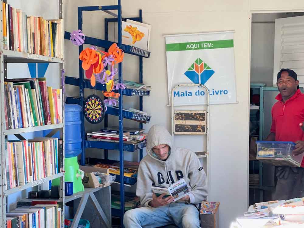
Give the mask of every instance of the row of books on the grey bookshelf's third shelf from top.
[[63, 171], [63, 140], [35, 138], [5, 142], [6, 189]]

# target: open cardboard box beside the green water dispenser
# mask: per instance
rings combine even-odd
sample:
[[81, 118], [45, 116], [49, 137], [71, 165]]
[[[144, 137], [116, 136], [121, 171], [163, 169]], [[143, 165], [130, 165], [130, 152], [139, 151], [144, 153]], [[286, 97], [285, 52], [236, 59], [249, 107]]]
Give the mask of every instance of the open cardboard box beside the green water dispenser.
[[102, 188], [110, 184], [99, 184], [98, 179], [94, 175], [94, 172], [105, 173], [109, 175], [109, 170], [105, 168], [95, 168], [92, 166], [79, 166], [79, 169], [84, 171], [84, 178], [82, 184], [85, 188]]

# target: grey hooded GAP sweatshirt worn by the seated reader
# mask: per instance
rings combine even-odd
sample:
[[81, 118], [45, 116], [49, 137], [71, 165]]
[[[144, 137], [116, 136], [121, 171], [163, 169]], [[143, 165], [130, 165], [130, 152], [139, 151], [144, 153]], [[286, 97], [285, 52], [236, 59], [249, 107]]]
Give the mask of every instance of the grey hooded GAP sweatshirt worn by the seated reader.
[[[158, 159], [152, 148], [161, 144], [170, 147], [166, 161]], [[168, 188], [183, 178], [191, 193], [190, 203], [199, 204], [206, 199], [207, 180], [205, 171], [194, 152], [175, 148], [166, 128], [154, 125], [147, 135], [147, 155], [140, 161], [137, 175], [136, 195], [142, 206], [149, 206], [152, 200], [151, 186]]]

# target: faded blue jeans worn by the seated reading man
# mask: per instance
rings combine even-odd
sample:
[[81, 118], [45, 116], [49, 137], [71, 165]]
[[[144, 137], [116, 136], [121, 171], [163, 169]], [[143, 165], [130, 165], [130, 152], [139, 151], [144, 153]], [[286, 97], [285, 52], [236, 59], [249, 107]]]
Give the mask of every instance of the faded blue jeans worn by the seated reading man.
[[155, 228], [169, 224], [180, 228], [200, 228], [199, 211], [193, 204], [175, 202], [157, 208], [135, 208], [123, 216], [126, 228]]

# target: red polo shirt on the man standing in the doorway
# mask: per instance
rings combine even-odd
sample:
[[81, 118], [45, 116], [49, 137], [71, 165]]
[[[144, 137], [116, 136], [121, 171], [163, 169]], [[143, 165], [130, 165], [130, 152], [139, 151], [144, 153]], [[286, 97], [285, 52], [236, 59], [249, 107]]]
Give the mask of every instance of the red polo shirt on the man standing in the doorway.
[[[304, 132], [299, 123], [304, 121], [304, 94], [298, 89], [285, 103], [278, 94], [271, 110], [272, 125], [270, 132], [275, 133], [275, 141], [304, 141]], [[304, 167], [304, 159], [301, 167]]]

